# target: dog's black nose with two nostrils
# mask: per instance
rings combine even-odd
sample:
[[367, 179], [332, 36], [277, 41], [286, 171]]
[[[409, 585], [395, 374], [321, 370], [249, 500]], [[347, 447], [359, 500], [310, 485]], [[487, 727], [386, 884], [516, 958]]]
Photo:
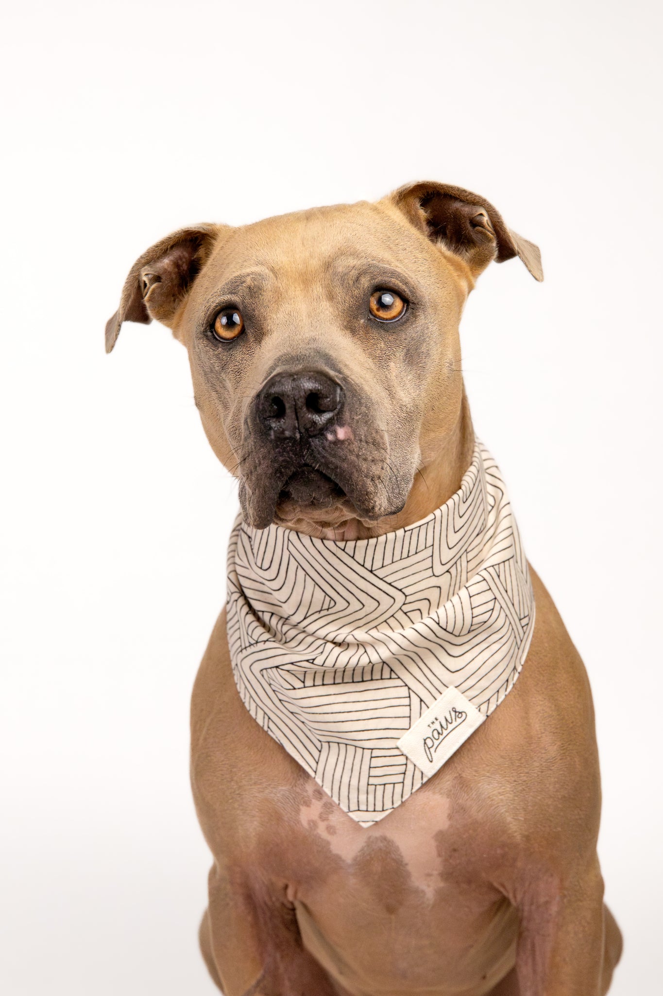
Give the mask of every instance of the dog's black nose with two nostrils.
[[343, 403], [343, 388], [325, 373], [275, 373], [257, 395], [257, 414], [274, 437], [317, 435]]

